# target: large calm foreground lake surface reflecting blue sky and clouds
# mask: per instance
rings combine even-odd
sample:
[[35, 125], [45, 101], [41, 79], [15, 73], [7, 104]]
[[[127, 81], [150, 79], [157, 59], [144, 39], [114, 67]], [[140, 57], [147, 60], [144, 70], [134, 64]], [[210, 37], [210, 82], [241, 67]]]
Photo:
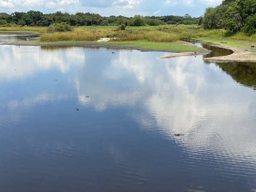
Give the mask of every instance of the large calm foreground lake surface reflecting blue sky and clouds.
[[256, 64], [166, 54], [1, 45], [0, 191], [255, 191]]

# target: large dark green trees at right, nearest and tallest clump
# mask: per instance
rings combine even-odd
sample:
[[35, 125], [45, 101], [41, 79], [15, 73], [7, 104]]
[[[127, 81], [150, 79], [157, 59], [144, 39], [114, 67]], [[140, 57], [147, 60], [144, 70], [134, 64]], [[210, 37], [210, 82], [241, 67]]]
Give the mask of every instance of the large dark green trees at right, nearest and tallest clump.
[[208, 7], [199, 24], [204, 29], [226, 29], [227, 35], [256, 33], [256, 0], [224, 0], [215, 8]]

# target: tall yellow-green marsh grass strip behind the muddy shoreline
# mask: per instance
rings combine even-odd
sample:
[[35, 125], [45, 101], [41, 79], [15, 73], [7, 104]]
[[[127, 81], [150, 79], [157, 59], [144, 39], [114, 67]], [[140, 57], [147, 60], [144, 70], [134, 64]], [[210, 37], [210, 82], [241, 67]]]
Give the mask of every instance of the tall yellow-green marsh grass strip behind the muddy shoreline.
[[200, 37], [227, 38], [256, 42], [256, 35], [250, 37], [239, 32], [227, 37], [224, 29], [205, 30], [197, 25], [163, 25], [126, 27], [117, 30], [116, 26], [87, 26], [77, 27], [73, 32], [55, 32], [41, 35], [40, 41], [97, 41], [99, 38], [112, 38], [112, 41], [151, 41], [170, 43], [178, 40], [189, 40]]

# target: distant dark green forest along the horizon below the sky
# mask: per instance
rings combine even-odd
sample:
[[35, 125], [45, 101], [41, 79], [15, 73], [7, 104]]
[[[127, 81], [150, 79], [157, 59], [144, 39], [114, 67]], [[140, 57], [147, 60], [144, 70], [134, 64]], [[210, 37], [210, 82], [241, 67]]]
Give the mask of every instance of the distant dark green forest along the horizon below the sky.
[[43, 14], [39, 11], [14, 12], [11, 15], [0, 13], [0, 26], [49, 26], [53, 23], [65, 22], [71, 26], [109, 26], [121, 25], [125, 26], [158, 26], [161, 24], [198, 24], [198, 18], [191, 17], [189, 14], [185, 16], [140, 16], [134, 17], [110, 16], [102, 17], [94, 13], [69, 13], [55, 12]]

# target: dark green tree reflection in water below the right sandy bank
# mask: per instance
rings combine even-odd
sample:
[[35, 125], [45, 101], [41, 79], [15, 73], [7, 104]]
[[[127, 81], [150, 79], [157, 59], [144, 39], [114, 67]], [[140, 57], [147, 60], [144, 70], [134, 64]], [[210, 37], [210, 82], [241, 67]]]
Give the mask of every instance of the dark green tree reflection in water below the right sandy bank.
[[215, 63], [221, 70], [229, 74], [236, 82], [256, 90], [256, 63], [230, 62]]

